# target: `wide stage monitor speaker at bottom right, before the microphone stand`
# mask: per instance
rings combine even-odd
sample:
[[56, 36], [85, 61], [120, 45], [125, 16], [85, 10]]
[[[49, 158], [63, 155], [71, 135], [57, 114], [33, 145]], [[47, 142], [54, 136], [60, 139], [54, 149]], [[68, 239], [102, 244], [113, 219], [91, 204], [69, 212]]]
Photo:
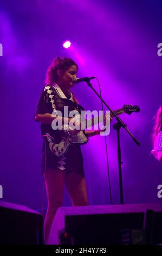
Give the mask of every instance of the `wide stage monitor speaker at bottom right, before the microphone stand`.
[[118, 245], [162, 242], [160, 204], [62, 207], [48, 244]]

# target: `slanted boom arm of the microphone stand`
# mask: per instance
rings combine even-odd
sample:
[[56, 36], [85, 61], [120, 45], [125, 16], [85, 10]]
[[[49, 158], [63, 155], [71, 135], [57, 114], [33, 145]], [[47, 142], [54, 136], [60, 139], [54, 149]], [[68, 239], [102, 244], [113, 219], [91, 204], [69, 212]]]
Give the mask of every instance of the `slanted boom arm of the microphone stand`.
[[105, 100], [102, 99], [102, 97], [100, 96], [100, 94], [98, 92], [96, 92], [96, 90], [93, 88], [92, 83], [90, 83], [90, 81], [86, 82], [88, 84], [88, 86], [93, 90], [93, 92], [100, 98], [100, 100], [103, 102], [103, 104], [109, 109], [109, 111], [113, 114], [113, 116], [116, 118], [116, 120], [120, 123], [120, 125], [128, 132], [128, 134], [132, 137], [133, 141], [135, 142], [135, 144], [137, 144], [138, 146], [140, 146], [140, 142], [133, 136], [133, 134], [128, 130], [128, 128], [126, 127], [126, 124], [114, 113], [114, 111], [107, 105], [107, 103], [105, 102]]

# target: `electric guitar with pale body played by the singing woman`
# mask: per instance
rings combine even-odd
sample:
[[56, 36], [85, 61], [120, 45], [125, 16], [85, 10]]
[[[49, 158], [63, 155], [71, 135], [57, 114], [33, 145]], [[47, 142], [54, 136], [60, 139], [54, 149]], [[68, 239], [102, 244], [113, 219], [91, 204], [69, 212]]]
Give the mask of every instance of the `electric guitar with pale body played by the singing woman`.
[[[140, 108], [136, 105], [124, 105], [122, 108], [117, 109], [115, 112], [116, 115], [120, 115], [122, 113], [127, 113], [127, 114], [132, 114], [133, 112], [139, 112]], [[112, 113], [110, 113], [111, 118], [113, 118]], [[85, 120], [81, 122], [81, 115], [77, 115], [77, 120], [80, 119], [80, 129], [76, 130], [76, 129], [72, 129], [70, 128], [69, 125], [62, 125], [61, 129], [59, 129], [60, 135], [61, 135], [61, 142], [60, 143], [56, 143], [55, 142], [55, 138], [51, 137], [50, 135], [43, 135], [43, 137], [46, 137], [48, 139], [49, 142], [49, 148], [51, 150], [51, 152], [55, 155], [55, 156], [63, 156], [64, 154], [66, 154], [68, 148], [70, 145], [72, 144], [85, 144], [88, 142], [88, 138], [85, 135], [84, 130], [81, 130], [81, 127], [86, 127], [86, 129], [88, 127], [94, 126], [95, 124], [99, 123], [99, 120], [101, 116], [96, 117], [92, 120]], [[74, 121], [76, 120], [76, 116], [70, 119], [70, 122], [72, 121], [72, 123], [74, 123]], [[102, 120], [103, 120], [103, 116], [102, 116]], [[83, 124], [85, 122], [85, 124]], [[84, 126], [83, 126], [84, 125]]]

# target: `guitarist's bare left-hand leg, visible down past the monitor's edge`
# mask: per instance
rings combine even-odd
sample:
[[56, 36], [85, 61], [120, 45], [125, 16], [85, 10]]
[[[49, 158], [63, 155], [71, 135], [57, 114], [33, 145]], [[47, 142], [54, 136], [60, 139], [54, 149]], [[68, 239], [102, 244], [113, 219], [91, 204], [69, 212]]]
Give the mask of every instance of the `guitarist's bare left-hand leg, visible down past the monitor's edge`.
[[62, 205], [64, 177], [65, 172], [63, 170], [48, 169], [46, 171], [45, 179], [48, 198], [48, 209], [44, 220], [44, 240], [46, 243], [56, 211]]

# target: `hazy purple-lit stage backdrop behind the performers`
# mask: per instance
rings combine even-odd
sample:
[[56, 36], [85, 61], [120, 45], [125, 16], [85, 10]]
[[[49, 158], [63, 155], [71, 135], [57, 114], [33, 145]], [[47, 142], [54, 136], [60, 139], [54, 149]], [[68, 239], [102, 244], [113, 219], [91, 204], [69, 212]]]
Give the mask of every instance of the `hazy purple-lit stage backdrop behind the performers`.
[[[35, 107], [48, 66], [56, 56], [73, 58], [81, 76], [98, 76], [103, 98], [113, 109], [125, 103], [141, 108], [122, 115], [137, 147], [121, 130], [124, 202], [161, 203], [162, 164], [151, 156], [152, 118], [161, 101], [162, 4], [149, 1], [1, 1], [1, 161], [3, 200], [41, 208], [40, 124]], [[73, 48], [62, 48], [69, 39]], [[99, 90], [98, 84], [93, 81]], [[86, 109], [101, 102], [86, 83], [74, 92]], [[113, 121], [113, 123], [115, 120]], [[107, 137], [113, 203], [119, 204], [116, 134]], [[82, 147], [90, 204], [109, 204], [104, 137], [92, 137]], [[47, 204], [47, 202], [46, 202]], [[45, 206], [46, 206], [45, 204]], [[70, 205], [67, 193], [63, 205]]]

